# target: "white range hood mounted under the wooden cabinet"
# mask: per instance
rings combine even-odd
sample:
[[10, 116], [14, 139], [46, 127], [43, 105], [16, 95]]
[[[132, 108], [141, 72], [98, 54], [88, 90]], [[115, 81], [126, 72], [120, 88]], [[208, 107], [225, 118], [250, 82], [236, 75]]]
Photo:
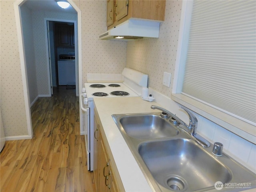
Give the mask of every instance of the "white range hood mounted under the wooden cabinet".
[[160, 22], [157, 21], [129, 19], [101, 34], [100, 39], [129, 41], [145, 38], [158, 38], [159, 28]]

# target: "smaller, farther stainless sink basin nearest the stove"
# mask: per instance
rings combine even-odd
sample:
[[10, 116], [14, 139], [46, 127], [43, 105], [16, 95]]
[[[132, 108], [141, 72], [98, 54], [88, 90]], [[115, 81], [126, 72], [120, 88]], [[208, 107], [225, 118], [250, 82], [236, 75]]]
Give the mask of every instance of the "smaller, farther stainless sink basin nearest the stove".
[[126, 134], [133, 138], [154, 139], [173, 137], [179, 132], [168, 120], [156, 114], [113, 115]]

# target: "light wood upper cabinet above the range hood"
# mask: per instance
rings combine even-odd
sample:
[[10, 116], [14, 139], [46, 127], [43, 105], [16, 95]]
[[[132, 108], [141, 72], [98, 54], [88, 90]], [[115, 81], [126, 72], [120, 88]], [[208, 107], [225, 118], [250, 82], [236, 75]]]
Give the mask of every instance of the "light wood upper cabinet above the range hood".
[[166, 0], [107, 0], [108, 30], [130, 18], [164, 21]]

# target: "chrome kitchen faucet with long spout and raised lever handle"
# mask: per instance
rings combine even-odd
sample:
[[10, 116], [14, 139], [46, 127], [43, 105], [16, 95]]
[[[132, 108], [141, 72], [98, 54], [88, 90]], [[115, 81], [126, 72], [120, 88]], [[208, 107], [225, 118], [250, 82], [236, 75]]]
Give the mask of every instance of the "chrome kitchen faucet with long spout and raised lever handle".
[[190, 110], [184, 106], [180, 106], [180, 108], [184, 109], [189, 116], [189, 125], [187, 125], [185, 122], [183, 122], [180, 118], [178, 118], [176, 115], [174, 115], [172, 112], [159, 107], [159, 106], [155, 106], [152, 105], [151, 106], [152, 109], [158, 109], [166, 114], [168, 114], [169, 116], [171, 116], [172, 118], [176, 119], [178, 122], [180, 122], [180, 124], [182, 124], [184, 127], [187, 128], [187, 132], [201, 145], [204, 147], [209, 147], [210, 146], [210, 142], [208, 142], [206, 139], [202, 138], [200, 135], [196, 134], [196, 130], [197, 130], [197, 124], [198, 124], [198, 120], [196, 118], [196, 116], [194, 116], [194, 114], [192, 114], [192, 112], [190, 112]]

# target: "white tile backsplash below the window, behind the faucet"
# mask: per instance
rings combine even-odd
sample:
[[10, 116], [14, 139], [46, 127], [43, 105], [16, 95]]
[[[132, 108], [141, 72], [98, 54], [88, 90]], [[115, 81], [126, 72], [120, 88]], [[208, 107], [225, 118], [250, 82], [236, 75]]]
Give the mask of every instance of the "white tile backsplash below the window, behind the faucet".
[[[179, 104], [168, 98], [164, 94], [149, 88], [149, 94], [152, 94], [155, 101], [164, 106], [165, 109], [176, 114], [185, 123], [188, 123], [188, 116], [185, 112], [180, 110]], [[223, 144], [223, 151], [237, 160], [239, 163], [256, 173], [256, 145], [237, 136], [236, 134], [226, 130], [218, 124], [194, 113], [198, 119], [197, 132], [206, 138], [212, 144], [214, 142], [221, 142]]]

